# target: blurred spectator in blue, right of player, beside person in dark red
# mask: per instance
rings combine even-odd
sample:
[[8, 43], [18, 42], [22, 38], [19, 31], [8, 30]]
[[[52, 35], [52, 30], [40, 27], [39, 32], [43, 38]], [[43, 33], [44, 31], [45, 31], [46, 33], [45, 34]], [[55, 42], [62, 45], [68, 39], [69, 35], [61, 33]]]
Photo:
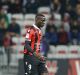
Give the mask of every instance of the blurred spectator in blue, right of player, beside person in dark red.
[[50, 30], [45, 33], [45, 37], [50, 45], [57, 45], [58, 36], [55, 28], [50, 28]]

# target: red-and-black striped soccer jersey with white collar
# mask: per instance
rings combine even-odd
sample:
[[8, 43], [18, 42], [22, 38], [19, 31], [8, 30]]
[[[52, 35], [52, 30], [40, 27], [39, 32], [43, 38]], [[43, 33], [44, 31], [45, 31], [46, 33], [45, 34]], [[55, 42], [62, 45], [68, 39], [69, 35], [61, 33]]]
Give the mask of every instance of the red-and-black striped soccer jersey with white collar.
[[26, 40], [30, 42], [32, 50], [37, 53], [40, 51], [41, 37], [41, 30], [36, 25], [33, 24], [33, 26], [27, 27]]

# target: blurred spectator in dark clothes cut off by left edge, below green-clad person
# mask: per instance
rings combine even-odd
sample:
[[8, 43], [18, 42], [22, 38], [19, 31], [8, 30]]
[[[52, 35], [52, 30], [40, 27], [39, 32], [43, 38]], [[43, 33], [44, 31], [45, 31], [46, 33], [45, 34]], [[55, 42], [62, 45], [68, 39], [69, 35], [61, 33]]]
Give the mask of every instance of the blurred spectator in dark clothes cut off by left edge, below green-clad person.
[[3, 46], [3, 40], [6, 35], [7, 29], [5, 27], [5, 19], [0, 18], [0, 46]]

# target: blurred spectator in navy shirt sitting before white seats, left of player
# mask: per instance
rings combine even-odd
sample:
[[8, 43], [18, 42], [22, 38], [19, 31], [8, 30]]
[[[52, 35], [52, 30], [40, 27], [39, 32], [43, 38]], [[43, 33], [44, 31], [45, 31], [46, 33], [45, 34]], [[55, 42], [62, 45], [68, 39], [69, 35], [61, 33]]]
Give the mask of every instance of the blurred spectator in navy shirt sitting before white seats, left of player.
[[16, 19], [11, 19], [11, 24], [8, 27], [8, 32], [11, 36], [19, 36], [20, 35], [20, 26], [16, 23]]

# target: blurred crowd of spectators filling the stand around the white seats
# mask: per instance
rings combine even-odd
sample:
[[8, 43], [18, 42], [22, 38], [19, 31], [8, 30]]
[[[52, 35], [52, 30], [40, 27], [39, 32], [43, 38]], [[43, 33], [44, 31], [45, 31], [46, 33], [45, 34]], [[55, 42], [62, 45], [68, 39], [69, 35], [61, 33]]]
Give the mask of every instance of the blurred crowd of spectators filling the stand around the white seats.
[[[21, 27], [8, 13], [37, 14], [39, 7], [49, 7], [51, 17], [47, 21], [43, 43], [51, 45], [80, 44], [80, 0], [0, 0], [0, 47], [13, 44], [13, 36], [21, 36]], [[60, 18], [56, 19], [55, 15]], [[48, 48], [47, 48], [48, 49]], [[6, 50], [7, 52], [7, 50]], [[9, 52], [7, 52], [9, 53]]]

